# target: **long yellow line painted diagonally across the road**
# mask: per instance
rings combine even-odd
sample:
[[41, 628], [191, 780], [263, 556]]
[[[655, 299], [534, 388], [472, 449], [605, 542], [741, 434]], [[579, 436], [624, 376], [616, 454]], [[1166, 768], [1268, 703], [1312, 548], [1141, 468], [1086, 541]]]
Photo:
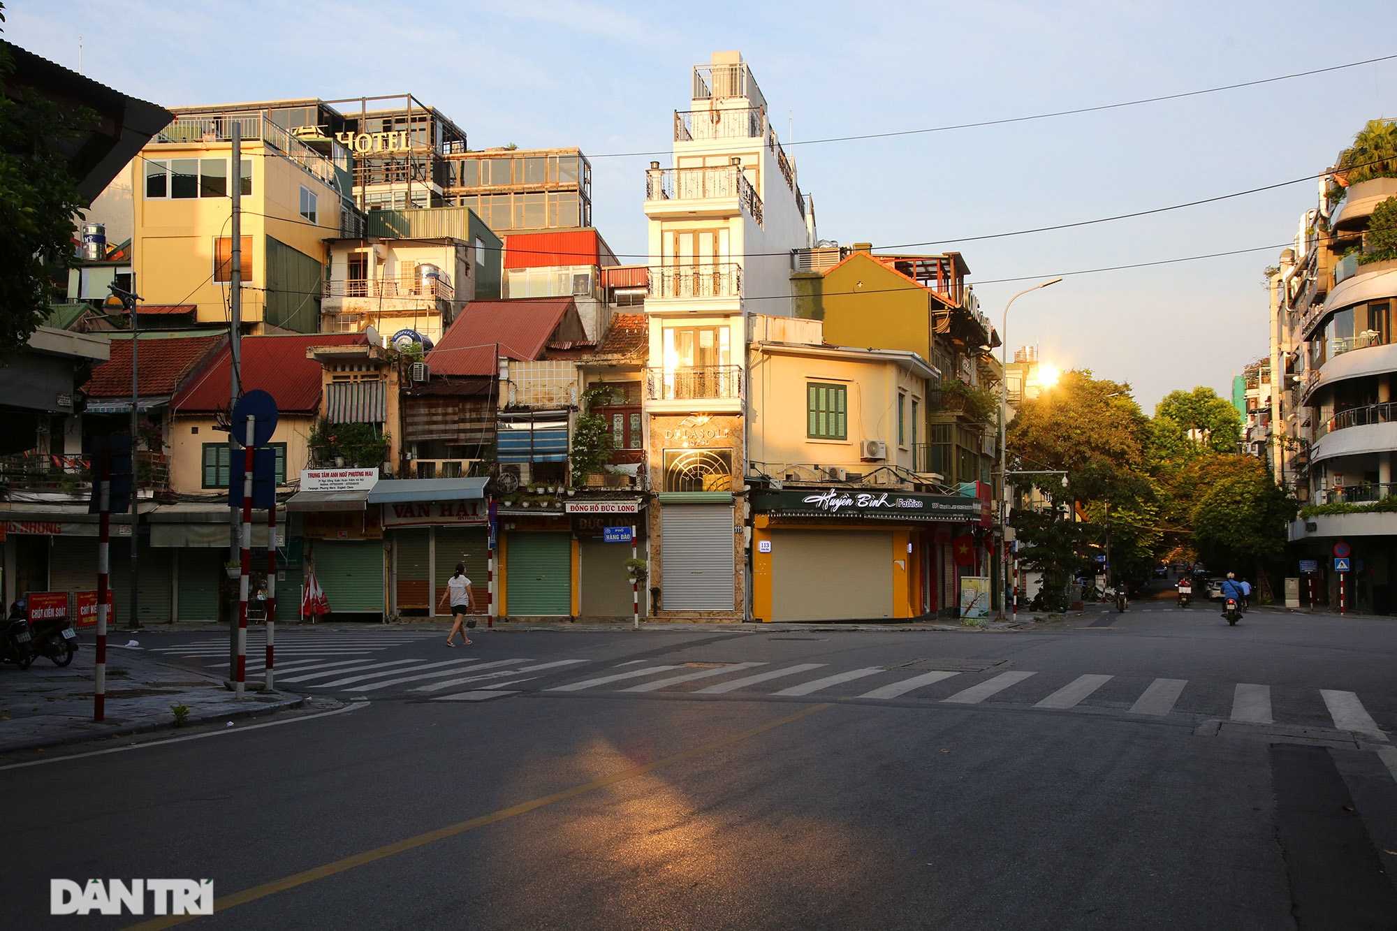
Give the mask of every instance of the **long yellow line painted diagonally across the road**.
[[[615, 786], [616, 783], [623, 783], [637, 776], [644, 776], [647, 773], [654, 773], [659, 769], [666, 769], [675, 766], [676, 763], [683, 763], [696, 756], [701, 756], [711, 751], [736, 744], [738, 741], [745, 741], [749, 737], [756, 737], [757, 734], [764, 734], [766, 731], [775, 730], [785, 724], [799, 721], [802, 717], [809, 717], [816, 712], [823, 712], [827, 707], [833, 707], [833, 703], [826, 702], [823, 705], [812, 705], [810, 707], [802, 709], [795, 714], [787, 714], [785, 717], [778, 717], [774, 721], [767, 721], [766, 724], [759, 724], [756, 727], [749, 727], [745, 731], [731, 734], [728, 737], [719, 737], [717, 739], [708, 741], [707, 744], [700, 744], [698, 746], [692, 746], [686, 751], [675, 753], [673, 756], [666, 756], [664, 759], [657, 759], [652, 763], [645, 763], [643, 766], [631, 766], [630, 769], [623, 769], [619, 773], [612, 773], [610, 776], [602, 776], [601, 779], [594, 779], [590, 783], [583, 783], [580, 786], [573, 786], [571, 788], [564, 788], [563, 791], [553, 793], [552, 795], [539, 795], [538, 798], [531, 798], [529, 801], [520, 802], [518, 805], [511, 805], [509, 808], [500, 808], [489, 815], [481, 815], [479, 818], [471, 818], [469, 821], [462, 821], [455, 825], [447, 825], [446, 828], [437, 828], [436, 830], [429, 830], [425, 835], [418, 835], [416, 837], [405, 837], [402, 840], [394, 842], [391, 844], [384, 844], [383, 847], [374, 847], [373, 850], [365, 850], [363, 853], [356, 853], [352, 857], [345, 857], [342, 860], [335, 860], [327, 863], [321, 867], [313, 869], [305, 869], [302, 872], [284, 876], [281, 879], [272, 879], [271, 882], [264, 882], [260, 886], [253, 886], [251, 889], [243, 889], [242, 892], [235, 892], [232, 895], [224, 896], [214, 900], [214, 914], [233, 909], [240, 904], [247, 904], [249, 902], [256, 902], [257, 899], [265, 899], [270, 895], [278, 892], [285, 892], [288, 889], [295, 889], [296, 886], [303, 886], [307, 882], [316, 882], [317, 879], [326, 879], [337, 874], [345, 872], [346, 869], [353, 869], [355, 867], [363, 867], [365, 864], [374, 863], [376, 860], [384, 860], [400, 853], [407, 853], [408, 850], [416, 850], [426, 844], [433, 844], [439, 840], [446, 840], [447, 837], [455, 837], [457, 835], [464, 835], [476, 828], [485, 828], [486, 825], [493, 825], [500, 821], [507, 821], [510, 818], [517, 818], [518, 815], [527, 815], [531, 811], [538, 811], [546, 805], [553, 805], [560, 801], [567, 801], [569, 798], [577, 798], [578, 795], [585, 795], [587, 793], [597, 791], [598, 788], [605, 788], [608, 786]], [[177, 924], [184, 924], [186, 921], [193, 921], [198, 916], [161, 916], [149, 921], [141, 921], [140, 924], [130, 925], [131, 928], [140, 928], [141, 931], [152, 931], [154, 928], [172, 928]]]

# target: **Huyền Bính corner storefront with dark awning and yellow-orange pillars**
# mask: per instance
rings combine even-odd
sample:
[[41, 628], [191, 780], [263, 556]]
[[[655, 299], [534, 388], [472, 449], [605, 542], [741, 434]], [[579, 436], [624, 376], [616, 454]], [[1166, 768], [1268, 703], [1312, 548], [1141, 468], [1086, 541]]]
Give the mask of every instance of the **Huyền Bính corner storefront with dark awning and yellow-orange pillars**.
[[845, 621], [935, 611], [947, 593], [933, 586], [954, 570], [937, 530], [979, 523], [983, 507], [974, 498], [828, 488], [756, 491], [752, 510], [753, 618]]

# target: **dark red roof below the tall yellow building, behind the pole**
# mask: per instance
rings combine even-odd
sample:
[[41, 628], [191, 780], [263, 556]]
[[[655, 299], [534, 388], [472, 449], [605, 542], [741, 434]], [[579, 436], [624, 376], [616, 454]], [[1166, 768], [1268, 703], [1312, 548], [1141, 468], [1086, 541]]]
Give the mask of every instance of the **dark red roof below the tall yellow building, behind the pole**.
[[[313, 345], [367, 342], [362, 333], [310, 333], [243, 337], [243, 390], [261, 389], [277, 400], [282, 414], [320, 411], [320, 363], [306, 358]], [[170, 410], [176, 414], [211, 414], [228, 408], [232, 377], [231, 349], [224, 348], [189, 384], [180, 389]]]

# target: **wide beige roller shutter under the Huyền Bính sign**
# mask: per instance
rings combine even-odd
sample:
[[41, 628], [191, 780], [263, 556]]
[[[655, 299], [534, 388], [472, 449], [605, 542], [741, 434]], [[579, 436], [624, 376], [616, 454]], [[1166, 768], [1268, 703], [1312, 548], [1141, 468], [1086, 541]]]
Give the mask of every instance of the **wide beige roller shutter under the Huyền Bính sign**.
[[773, 621], [893, 616], [893, 534], [787, 530], [771, 534]]

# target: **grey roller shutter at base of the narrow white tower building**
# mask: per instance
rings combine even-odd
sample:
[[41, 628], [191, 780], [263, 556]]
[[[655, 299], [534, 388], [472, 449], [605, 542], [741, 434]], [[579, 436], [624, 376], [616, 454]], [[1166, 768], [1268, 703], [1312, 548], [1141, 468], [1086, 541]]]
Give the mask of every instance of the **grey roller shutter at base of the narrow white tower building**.
[[665, 505], [659, 521], [659, 605], [669, 611], [732, 611], [732, 505]]

